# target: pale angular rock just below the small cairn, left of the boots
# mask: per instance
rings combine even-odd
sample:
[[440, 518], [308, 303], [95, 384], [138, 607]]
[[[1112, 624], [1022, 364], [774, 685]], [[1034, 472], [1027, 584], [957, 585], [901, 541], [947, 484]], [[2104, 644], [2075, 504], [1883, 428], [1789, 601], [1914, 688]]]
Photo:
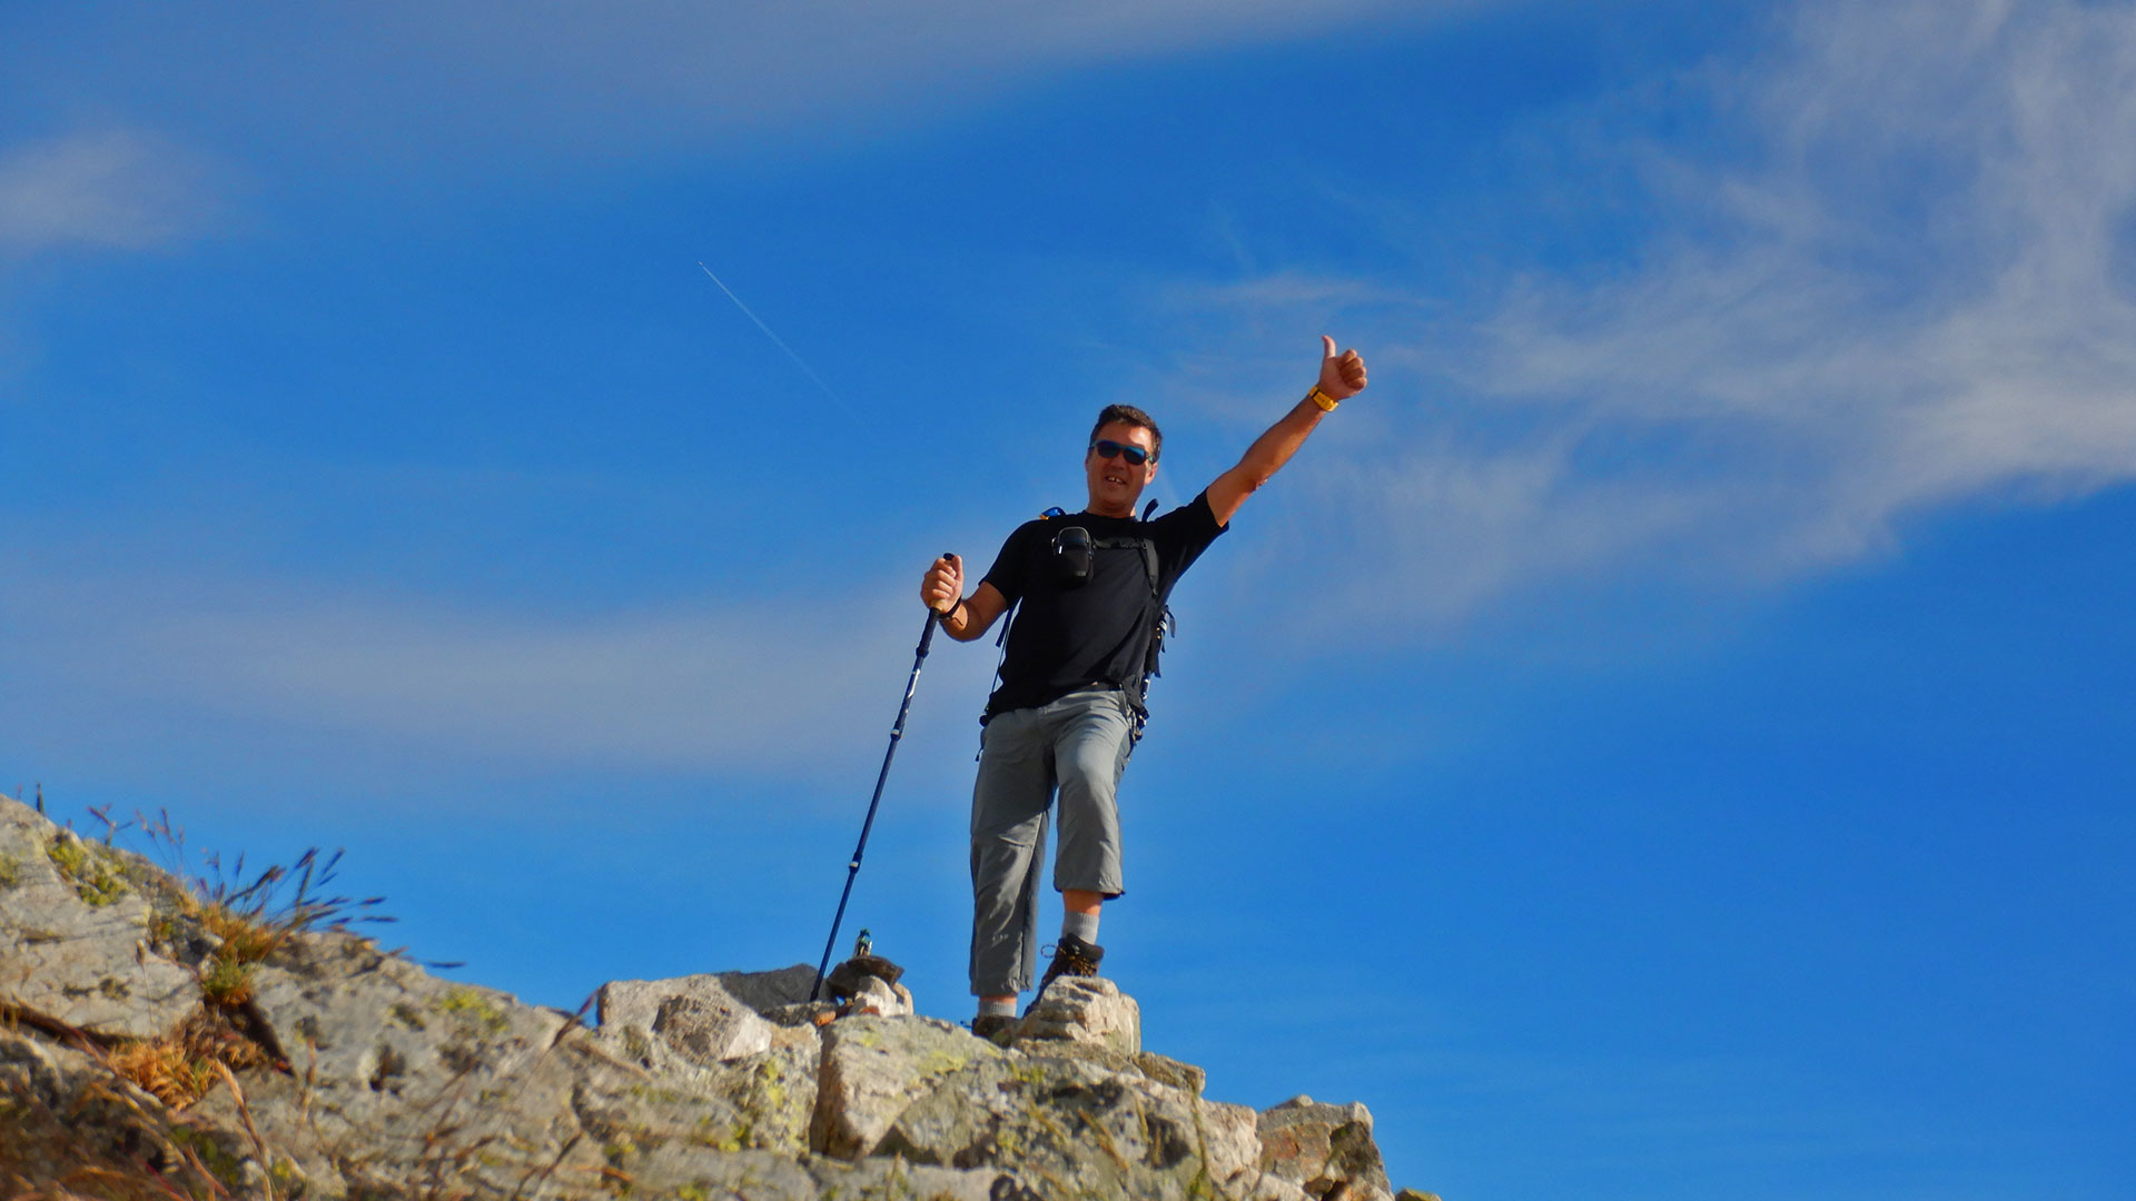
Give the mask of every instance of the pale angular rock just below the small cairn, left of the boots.
[[837, 1158], [876, 1150], [914, 1098], [974, 1060], [1002, 1051], [933, 1017], [846, 1017], [822, 1032], [810, 1148]]

